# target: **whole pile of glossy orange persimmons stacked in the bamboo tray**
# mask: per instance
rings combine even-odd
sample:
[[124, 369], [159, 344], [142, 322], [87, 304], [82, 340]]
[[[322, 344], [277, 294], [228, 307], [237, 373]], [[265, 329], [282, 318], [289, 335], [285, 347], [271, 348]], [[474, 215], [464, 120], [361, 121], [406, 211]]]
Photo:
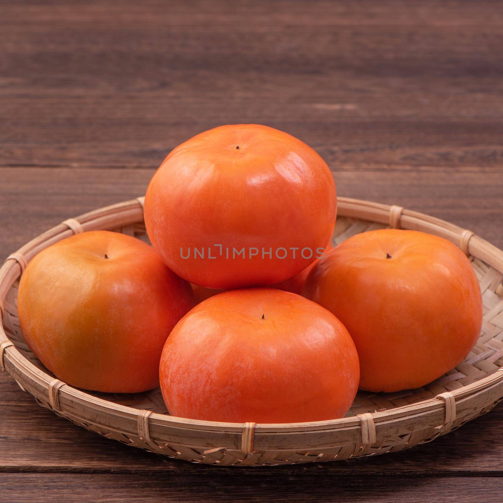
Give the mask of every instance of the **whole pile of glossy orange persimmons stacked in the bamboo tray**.
[[172, 415], [293, 423], [343, 417], [357, 389], [398, 391], [463, 361], [482, 323], [466, 256], [383, 229], [330, 247], [336, 188], [287, 133], [222, 126], [175, 148], [145, 196], [152, 246], [92, 231], [26, 268], [24, 338], [58, 379], [134, 393]]

